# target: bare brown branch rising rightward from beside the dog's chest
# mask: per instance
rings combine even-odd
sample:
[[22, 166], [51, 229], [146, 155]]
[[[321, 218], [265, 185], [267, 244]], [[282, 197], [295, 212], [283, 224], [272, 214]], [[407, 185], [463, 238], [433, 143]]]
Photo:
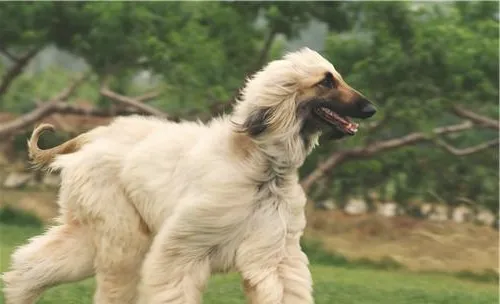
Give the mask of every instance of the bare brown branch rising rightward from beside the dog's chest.
[[[432, 131], [432, 134], [441, 135], [441, 134], [456, 133], [471, 129], [473, 126], [474, 124], [472, 122], [465, 121], [463, 123], [456, 125], [435, 128]], [[414, 132], [398, 138], [373, 142], [364, 147], [357, 147], [349, 150], [334, 152], [330, 155], [330, 157], [326, 159], [326, 161], [320, 163], [316, 167], [316, 169], [313, 170], [313, 172], [311, 172], [308, 176], [303, 178], [301, 181], [301, 185], [307, 192], [319, 178], [323, 177], [330, 170], [332, 170], [334, 167], [338, 166], [340, 163], [344, 161], [352, 159], [368, 158], [382, 151], [397, 149], [400, 147], [415, 144], [417, 142], [429, 140], [431, 138], [432, 137], [429, 136], [429, 134]]]

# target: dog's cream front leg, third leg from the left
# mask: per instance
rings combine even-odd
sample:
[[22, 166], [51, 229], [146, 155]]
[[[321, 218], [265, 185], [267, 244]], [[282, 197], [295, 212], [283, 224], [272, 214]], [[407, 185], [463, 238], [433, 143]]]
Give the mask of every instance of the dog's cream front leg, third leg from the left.
[[[155, 238], [142, 268], [140, 304], [198, 304], [210, 276], [203, 249], [182, 224], [167, 225]], [[193, 231], [194, 233], [194, 231]]]

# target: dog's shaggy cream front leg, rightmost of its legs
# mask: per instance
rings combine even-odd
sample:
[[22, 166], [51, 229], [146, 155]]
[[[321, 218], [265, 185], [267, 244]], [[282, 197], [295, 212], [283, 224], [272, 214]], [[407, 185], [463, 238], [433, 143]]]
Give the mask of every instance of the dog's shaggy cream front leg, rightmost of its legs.
[[306, 225], [303, 197], [302, 204], [300, 201], [257, 218], [255, 226], [259, 228], [238, 249], [237, 267], [251, 304], [314, 303], [309, 261], [300, 248]]

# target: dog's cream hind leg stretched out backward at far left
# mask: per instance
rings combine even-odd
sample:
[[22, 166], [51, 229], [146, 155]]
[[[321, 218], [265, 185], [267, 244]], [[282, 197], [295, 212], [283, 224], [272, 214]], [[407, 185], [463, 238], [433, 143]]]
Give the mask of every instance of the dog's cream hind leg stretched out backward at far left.
[[6, 304], [32, 304], [49, 287], [93, 274], [94, 248], [78, 223], [50, 228], [18, 248], [2, 276]]

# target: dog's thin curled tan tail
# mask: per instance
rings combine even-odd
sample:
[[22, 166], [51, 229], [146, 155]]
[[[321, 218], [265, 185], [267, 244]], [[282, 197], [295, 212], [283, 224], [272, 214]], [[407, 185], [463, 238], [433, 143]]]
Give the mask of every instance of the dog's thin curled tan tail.
[[41, 124], [33, 130], [30, 139], [28, 140], [28, 155], [32, 165], [39, 169], [46, 167], [54, 161], [54, 158], [59, 154], [68, 154], [78, 151], [86, 142], [84, 135], [79, 135], [72, 138], [59, 146], [50, 149], [40, 149], [38, 140], [45, 131], [54, 132], [55, 128], [51, 124]]

